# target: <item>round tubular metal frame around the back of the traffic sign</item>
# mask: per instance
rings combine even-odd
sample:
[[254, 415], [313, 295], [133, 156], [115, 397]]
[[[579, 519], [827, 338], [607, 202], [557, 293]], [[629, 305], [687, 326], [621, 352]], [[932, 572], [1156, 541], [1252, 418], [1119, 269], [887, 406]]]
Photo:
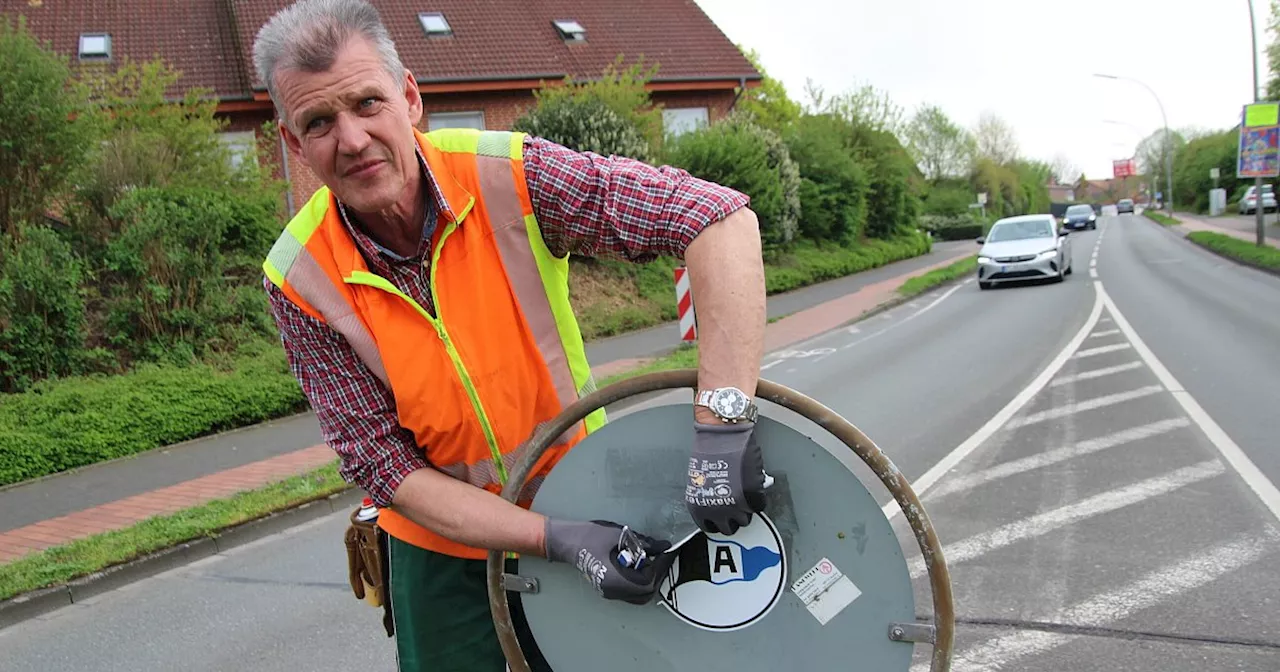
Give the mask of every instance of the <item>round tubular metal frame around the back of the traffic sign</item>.
[[[627, 397], [652, 392], [678, 388], [695, 389], [696, 384], [698, 371], [695, 369], [659, 371], [614, 383], [580, 398], [534, 431], [534, 435], [529, 439], [529, 451], [511, 470], [507, 485], [502, 490], [502, 497], [508, 502], [516, 502], [520, 486], [529, 479], [532, 466], [543, 453], [556, 443], [561, 434], [598, 408], [604, 408]], [[881, 484], [884, 485], [897, 502], [904, 518], [911, 527], [913, 536], [928, 570], [933, 600], [933, 618], [928, 625], [893, 623], [887, 636], [895, 641], [932, 643], [933, 650], [929, 672], [950, 672], [951, 649], [955, 637], [955, 611], [951, 596], [950, 572], [942, 556], [942, 544], [910, 483], [902, 476], [888, 456], [863, 434], [861, 430], [822, 403], [764, 379], [760, 379], [756, 385], [756, 398], [787, 408], [840, 439], [841, 443], [847, 445], [870, 467]], [[489, 609], [503, 655], [507, 658], [508, 668], [512, 672], [531, 672], [529, 662], [521, 652], [520, 641], [516, 637], [507, 602], [507, 590], [536, 590], [536, 586], [525, 586], [520, 581], [513, 580], [515, 577], [511, 575], [506, 575], [504, 558], [504, 550], [492, 550], [488, 556]]]

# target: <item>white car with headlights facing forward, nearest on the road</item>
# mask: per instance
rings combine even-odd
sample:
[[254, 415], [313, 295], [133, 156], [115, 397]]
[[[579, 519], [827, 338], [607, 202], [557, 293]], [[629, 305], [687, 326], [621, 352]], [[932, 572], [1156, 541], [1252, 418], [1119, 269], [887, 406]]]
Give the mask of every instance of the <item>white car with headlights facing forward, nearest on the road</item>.
[[1053, 215], [1001, 219], [978, 244], [978, 287], [983, 289], [1044, 278], [1062, 282], [1071, 274], [1071, 241]]

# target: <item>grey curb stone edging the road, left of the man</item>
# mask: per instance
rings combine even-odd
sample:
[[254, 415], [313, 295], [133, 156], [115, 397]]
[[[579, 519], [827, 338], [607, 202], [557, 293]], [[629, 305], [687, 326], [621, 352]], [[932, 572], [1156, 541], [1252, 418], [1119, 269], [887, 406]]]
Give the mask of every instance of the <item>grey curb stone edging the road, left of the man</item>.
[[225, 553], [259, 539], [283, 532], [330, 513], [347, 511], [364, 498], [364, 492], [347, 488], [320, 499], [268, 513], [261, 518], [221, 530], [214, 536], [183, 541], [147, 556], [108, 567], [64, 585], [42, 588], [0, 602], [0, 630], [38, 618], [63, 607], [84, 602], [120, 586], [148, 579], [218, 553]]

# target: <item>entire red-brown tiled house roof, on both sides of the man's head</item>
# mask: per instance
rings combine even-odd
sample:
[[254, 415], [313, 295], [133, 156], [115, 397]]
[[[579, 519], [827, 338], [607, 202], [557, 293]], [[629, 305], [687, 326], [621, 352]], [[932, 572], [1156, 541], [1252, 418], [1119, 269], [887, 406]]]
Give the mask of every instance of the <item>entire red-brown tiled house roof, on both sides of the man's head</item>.
[[[177, 87], [243, 100], [265, 87], [252, 68], [259, 28], [289, 0], [0, 0], [28, 29], [76, 63], [81, 33], [111, 36], [113, 60], [163, 56]], [[371, 0], [401, 59], [422, 83], [596, 77], [620, 54], [658, 64], [655, 81], [759, 79], [694, 0]], [[443, 13], [451, 37], [429, 38], [420, 12]], [[553, 19], [573, 19], [586, 41], [566, 44]]]

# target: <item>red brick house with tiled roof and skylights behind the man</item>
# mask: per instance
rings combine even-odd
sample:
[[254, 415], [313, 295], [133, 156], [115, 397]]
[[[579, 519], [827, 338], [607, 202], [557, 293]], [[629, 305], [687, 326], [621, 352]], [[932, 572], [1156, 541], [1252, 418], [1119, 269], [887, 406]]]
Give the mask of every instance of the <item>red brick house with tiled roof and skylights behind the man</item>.
[[[728, 113], [758, 73], [694, 0], [371, 0], [419, 82], [424, 129], [507, 129], [534, 91], [588, 79], [622, 55], [658, 65], [649, 90], [666, 128], [682, 132]], [[252, 67], [257, 29], [288, 0], [0, 0], [6, 17], [77, 64], [165, 59], [173, 92], [204, 87], [228, 119], [224, 141], [251, 146], [274, 118]], [[319, 180], [283, 143], [289, 212]]]

